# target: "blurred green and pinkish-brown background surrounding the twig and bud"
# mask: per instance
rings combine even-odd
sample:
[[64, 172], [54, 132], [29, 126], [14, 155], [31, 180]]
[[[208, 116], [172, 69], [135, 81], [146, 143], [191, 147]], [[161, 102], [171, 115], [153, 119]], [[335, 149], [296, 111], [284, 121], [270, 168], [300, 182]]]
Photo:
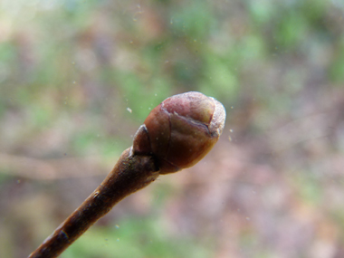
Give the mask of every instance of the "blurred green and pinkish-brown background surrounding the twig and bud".
[[0, 2], [0, 250], [26, 257], [149, 111], [227, 119], [195, 167], [127, 197], [61, 257], [344, 257], [344, 2]]

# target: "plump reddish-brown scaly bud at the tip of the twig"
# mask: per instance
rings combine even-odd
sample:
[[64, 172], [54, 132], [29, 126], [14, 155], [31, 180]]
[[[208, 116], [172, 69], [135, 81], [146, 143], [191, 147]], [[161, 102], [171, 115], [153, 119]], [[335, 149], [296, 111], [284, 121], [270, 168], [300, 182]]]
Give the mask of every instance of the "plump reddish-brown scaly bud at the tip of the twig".
[[160, 174], [177, 172], [204, 158], [225, 126], [225, 108], [196, 91], [167, 98], [135, 134], [132, 151], [157, 159]]

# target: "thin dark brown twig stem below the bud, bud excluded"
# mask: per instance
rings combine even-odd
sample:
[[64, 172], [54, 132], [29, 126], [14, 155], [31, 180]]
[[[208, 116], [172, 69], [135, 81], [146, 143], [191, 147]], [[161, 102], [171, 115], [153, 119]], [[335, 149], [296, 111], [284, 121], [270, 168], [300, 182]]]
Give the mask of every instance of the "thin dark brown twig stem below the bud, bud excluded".
[[153, 157], [130, 152], [122, 153], [100, 186], [28, 258], [57, 257], [121, 199], [158, 177]]

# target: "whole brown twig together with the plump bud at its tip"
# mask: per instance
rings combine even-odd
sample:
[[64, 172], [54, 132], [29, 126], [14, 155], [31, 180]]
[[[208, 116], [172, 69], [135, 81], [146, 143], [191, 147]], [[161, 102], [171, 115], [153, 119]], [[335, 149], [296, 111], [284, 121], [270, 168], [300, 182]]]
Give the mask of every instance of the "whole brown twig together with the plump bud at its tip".
[[29, 258], [57, 257], [122, 198], [158, 175], [195, 165], [213, 148], [224, 126], [224, 106], [202, 93], [164, 100], [149, 113], [109, 176]]

